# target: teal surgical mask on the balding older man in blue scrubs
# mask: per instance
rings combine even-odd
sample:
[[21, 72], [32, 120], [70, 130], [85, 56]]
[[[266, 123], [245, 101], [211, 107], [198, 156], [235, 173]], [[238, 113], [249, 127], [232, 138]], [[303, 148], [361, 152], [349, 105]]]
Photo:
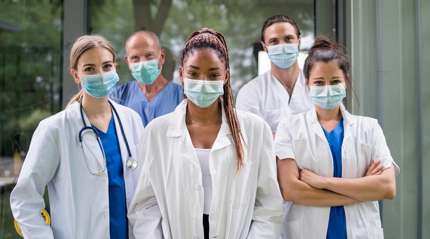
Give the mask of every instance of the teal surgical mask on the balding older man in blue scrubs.
[[144, 85], [150, 85], [155, 81], [161, 73], [161, 69], [158, 69], [158, 60], [160, 59], [160, 56], [161, 52], [158, 59], [129, 63], [132, 68], [132, 75], [136, 81]]

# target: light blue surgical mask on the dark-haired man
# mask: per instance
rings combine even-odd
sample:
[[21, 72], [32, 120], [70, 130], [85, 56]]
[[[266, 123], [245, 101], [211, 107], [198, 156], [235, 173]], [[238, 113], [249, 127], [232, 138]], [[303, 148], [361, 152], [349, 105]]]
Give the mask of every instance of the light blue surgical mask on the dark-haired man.
[[267, 54], [270, 61], [277, 67], [282, 69], [290, 68], [297, 60], [298, 43], [269, 46], [267, 47]]

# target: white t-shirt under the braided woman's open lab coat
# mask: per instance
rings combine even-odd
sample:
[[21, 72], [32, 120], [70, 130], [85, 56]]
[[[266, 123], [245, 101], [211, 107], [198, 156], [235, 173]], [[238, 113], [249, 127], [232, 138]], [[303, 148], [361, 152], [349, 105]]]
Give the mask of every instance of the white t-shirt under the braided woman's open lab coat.
[[203, 184], [204, 206], [203, 213], [209, 215], [210, 203], [212, 202], [212, 178], [209, 170], [210, 148], [194, 148], [200, 163]]

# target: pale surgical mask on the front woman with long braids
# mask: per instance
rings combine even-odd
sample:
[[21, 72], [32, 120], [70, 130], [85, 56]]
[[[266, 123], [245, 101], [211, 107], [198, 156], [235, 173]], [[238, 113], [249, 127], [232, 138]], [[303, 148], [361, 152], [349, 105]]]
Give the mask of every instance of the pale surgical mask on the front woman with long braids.
[[224, 81], [184, 78], [184, 93], [195, 105], [207, 108], [224, 95]]

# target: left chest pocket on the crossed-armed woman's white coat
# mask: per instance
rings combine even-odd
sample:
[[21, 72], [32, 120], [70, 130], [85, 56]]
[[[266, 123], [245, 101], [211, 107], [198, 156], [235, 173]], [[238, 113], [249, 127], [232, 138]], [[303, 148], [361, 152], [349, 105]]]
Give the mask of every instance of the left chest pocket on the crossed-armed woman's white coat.
[[299, 170], [308, 169], [318, 173], [318, 162], [314, 160], [308, 142], [307, 138], [293, 140], [294, 160]]

